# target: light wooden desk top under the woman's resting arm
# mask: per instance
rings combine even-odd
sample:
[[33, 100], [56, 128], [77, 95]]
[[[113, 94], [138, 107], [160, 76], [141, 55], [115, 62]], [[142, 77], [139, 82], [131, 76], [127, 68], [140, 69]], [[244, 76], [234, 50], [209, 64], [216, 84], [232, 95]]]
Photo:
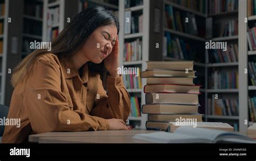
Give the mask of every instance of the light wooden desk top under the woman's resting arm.
[[[157, 132], [153, 130], [102, 130], [83, 132], [46, 132], [29, 136], [36, 143], [151, 143], [133, 139], [136, 134]], [[159, 131], [158, 131], [159, 132]]]

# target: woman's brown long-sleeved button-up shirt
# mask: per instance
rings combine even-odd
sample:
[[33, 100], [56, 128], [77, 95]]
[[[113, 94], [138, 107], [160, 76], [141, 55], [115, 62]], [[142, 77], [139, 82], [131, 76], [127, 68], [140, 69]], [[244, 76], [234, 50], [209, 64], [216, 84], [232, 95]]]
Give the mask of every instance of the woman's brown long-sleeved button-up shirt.
[[81, 75], [68, 57], [37, 58], [31, 76], [11, 97], [8, 118], [21, 118], [21, 127], [6, 125], [2, 143], [22, 143], [30, 134], [51, 131], [108, 130], [109, 118], [126, 121], [131, 102], [122, 75], [107, 76], [107, 94], [87, 64]]

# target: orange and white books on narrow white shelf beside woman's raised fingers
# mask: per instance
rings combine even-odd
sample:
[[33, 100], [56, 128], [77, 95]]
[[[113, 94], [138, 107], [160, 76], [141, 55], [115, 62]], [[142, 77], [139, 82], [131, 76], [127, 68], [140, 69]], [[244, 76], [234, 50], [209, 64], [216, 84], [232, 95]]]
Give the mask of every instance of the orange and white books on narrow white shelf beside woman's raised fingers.
[[136, 39], [124, 44], [124, 61], [142, 60], [142, 40]]

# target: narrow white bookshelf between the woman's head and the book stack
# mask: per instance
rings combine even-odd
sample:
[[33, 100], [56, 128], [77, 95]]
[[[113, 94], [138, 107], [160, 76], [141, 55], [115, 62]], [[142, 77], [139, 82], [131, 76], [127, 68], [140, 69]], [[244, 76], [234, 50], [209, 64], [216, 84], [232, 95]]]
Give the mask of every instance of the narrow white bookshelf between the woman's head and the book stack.
[[[149, 60], [149, 23], [150, 18], [149, 17], [143, 17], [142, 22], [142, 31], [140, 32], [139, 29], [136, 30], [136, 32], [133, 32], [131, 29], [130, 33], [125, 34], [125, 26], [130, 25], [133, 23], [130, 21], [128, 24], [125, 22], [127, 15], [125, 12], [130, 12], [131, 17], [138, 18], [139, 16], [149, 14], [150, 12], [150, 1], [142, 1], [142, 4], [134, 4], [130, 6], [126, 6], [126, 1], [119, 0], [119, 23], [120, 23], [120, 31], [119, 31], [119, 50], [120, 50], [120, 66], [124, 67], [138, 67], [140, 69], [140, 72], [145, 71], [146, 69], [146, 63], [145, 61]], [[135, 1], [134, 1], [135, 2]], [[131, 20], [132, 18], [130, 18]], [[138, 18], [139, 19], [139, 18]], [[135, 20], [134, 20], [135, 21]], [[138, 20], [139, 23], [139, 20]], [[135, 24], [136, 25], [136, 24]], [[126, 28], [127, 29], [127, 28]], [[140, 59], [131, 59], [126, 60], [125, 55], [128, 52], [125, 52], [125, 47], [127, 43], [132, 43], [133, 41], [138, 40], [140, 43], [142, 43], [141, 48], [141, 55]], [[124, 51], [124, 52], [122, 52]], [[134, 128], [145, 128], [145, 124], [147, 121], [147, 115], [141, 113], [142, 105], [145, 104], [145, 94], [143, 92], [143, 87], [146, 84], [145, 79], [139, 80], [142, 82], [142, 88], [137, 89], [129, 89], [127, 88], [127, 91], [130, 93], [131, 96], [138, 97], [139, 99], [139, 110], [140, 110], [140, 116], [129, 116], [129, 124], [132, 125]]]

